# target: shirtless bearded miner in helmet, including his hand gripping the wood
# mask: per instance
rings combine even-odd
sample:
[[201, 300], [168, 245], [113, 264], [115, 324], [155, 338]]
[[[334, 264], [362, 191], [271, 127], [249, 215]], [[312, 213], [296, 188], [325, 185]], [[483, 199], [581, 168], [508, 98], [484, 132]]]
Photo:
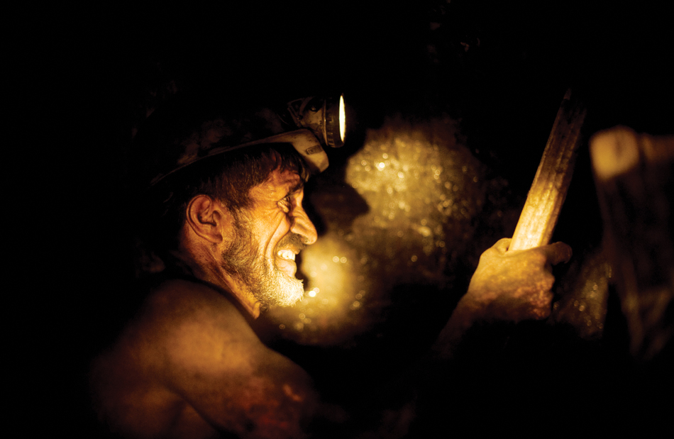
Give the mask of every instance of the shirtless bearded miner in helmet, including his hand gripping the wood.
[[[335, 412], [302, 367], [267, 348], [250, 323], [269, 306], [302, 299], [295, 257], [317, 238], [303, 187], [327, 165], [329, 104], [309, 99], [289, 104], [287, 117], [259, 108], [242, 117], [241, 106], [233, 115], [180, 102], [139, 132], [140, 229], [162, 269], [92, 366], [94, 409], [116, 435], [325, 437], [312, 421]], [[322, 131], [306, 123], [321, 111]], [[508, 243], [482, 255], [438, 338], [439, 357], [476, 322], [550, 313], [550, 266], [570, 249], [507, 252]]]

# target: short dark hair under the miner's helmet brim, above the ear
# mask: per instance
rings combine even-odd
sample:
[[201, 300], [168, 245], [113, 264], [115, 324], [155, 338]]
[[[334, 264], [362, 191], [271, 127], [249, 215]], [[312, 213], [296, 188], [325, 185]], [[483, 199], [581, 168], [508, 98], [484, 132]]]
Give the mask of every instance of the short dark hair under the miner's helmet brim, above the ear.
[[256, 145], [208, 157], [170, 174], [155, 184], [141, 201], [140, 235], [160, 257], [177, 249], [179, 230], [189, 201], [199, 194], [221, 201], [238, 218], [250, 206], [249, 191], [279, 169], [297, 172], [304, 182], [309, 170], [292, 145]]

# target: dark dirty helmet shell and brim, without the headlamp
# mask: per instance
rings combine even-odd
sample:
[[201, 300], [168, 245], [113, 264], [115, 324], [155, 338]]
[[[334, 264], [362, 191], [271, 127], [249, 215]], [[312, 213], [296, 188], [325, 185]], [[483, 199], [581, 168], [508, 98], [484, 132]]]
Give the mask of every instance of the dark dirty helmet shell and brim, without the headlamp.
[[132, 152], [136, 184], [147, 189], [208, 157], [270, 143], [292, 145], [312, 174], [325, 170], [328, 157], [319, 138], [284, 116], [278, 106], [176, 99], [138, 130]]

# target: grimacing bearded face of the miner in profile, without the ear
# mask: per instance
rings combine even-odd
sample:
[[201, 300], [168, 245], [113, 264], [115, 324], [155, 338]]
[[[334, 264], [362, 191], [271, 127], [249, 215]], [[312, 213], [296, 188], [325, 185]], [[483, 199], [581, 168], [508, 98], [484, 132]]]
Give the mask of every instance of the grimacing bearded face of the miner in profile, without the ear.
[[302, 187], [296, 172], [275, 170], [250, 189], [250, 207], [238, 212], [222, 254], [223, 268], [267, 306], [289, 306], [304, 295], [295, 255], [316, 241], [316, 228], [302, 209]]

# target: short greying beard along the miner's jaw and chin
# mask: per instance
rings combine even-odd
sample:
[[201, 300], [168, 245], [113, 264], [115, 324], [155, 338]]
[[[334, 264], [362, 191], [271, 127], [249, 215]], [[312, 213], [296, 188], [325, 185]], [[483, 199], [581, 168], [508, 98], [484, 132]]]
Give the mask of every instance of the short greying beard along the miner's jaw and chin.
[[221, 265], [258, 299], [264, 306], [291, 306], [304, 296], [302, 281], [290, 277], [267, 261], [256, 250], [258, 240], [250, 230], [234, 221], [235, 239], [222, 253]]

